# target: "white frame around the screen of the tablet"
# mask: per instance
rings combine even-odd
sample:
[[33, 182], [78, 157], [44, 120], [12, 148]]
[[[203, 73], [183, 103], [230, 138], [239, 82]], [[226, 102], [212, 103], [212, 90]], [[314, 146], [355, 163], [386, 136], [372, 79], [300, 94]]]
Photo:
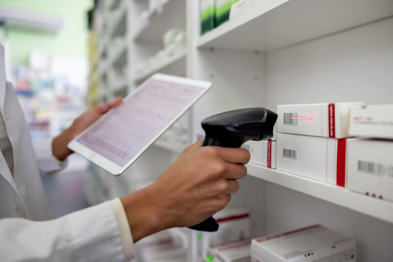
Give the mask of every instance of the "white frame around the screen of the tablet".
[[161, 135], [174, 123], [176, 120], [178, 120], [199, 98], [201, 98], [212, 86], [211, 82], [208, 81], [202, 81], [202, 80], [195, 80], [195, 79], [189, 79], [189, 78], [184, 78], [184, 77], [179, 77], [179, 76], [171, 76], [171, 75], [165, 75], [165, 74], [154, 74], [148, 79], [146, 79], [138, 88], [133, 90], [130, 94], [128, 94], [124, 99], [123, 102], [128, 100], [130, 97], [134, 96], [139, 90], [144, 88], [147, 83], [149, 83], [151, 80], [161, 80], [161, 81], [167, 81], [167, 82], [173, 82], [173, 83], [178, 83], [178, 84], [185, 84], [185, 85], [193, 85], [193, 86], [198, 86], [200, 88], [203, 88], [203, 91], [195, 97], [186, 107], [183, 108], [183, 110], [176, 115], [153, 139], [151, 139], [139, 152], [136, 154], [133, 158], [131, 158], [124, 166], [120, 166], [116, 164], [115, 162], [111, 161], [110, 159], [107, 159], [106, 157], [100, 155], [98, 152], [92, 150], [91, 148], [79, 143], [77, 140], [83, 136], [86, 132], [89, 132], [91, 128], [93, 128], [97, 123], [102, 121], [105, 117], [110, 115], [113, 111], [110, 110], [106, 112], [100, 119], [98, 119], [96, 122], [91, 124], [88, 128], [86, 128], [81, 134], [79, 134], [76, 138], [74, 138], [69, 144], [68, 148], [71, 150], [77, 152], [79, 155], [82, 157], [90, 160], [94, 164], [98, 165], [99, 167], [105, 169], [106, 171], [110, 172], [114, 176], [119, 176], [129, 165], [131, 165], [135, 160], [137, 160], [143, 152], [150, 147]]

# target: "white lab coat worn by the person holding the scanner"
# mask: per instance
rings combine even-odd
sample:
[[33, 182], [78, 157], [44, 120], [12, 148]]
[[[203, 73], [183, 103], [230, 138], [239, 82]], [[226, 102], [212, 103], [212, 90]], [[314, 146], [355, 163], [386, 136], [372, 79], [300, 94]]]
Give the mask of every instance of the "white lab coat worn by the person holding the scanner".
[[14, 157], [12, 177], [0, 152], [0, 261], [124, 261], [110, 202], [50, 220], [28, 126], [6, 82], [1, 45], [0, 112]]

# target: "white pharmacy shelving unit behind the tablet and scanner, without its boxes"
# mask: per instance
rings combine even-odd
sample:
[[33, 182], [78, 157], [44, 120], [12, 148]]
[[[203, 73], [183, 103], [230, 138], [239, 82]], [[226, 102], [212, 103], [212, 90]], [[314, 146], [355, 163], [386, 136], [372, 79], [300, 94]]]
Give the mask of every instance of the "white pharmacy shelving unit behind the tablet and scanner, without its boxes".
[[[213, 88], [177, 123], [187, 123], [188, 145], [204, 135], [202, 119], [234, 108], [391, 103], [391, 0], [266, 0], [202, 36], [199, 1], [164, 1], [142, 26], [137, 20], [148, 1], [123, 1], [105, 2], [99, 9], [105, 19], [98, 23], [98, 42], [104, 40], [98, 64], [105, 66], [96, 77], [101, 92], [97, 102], [126, 95], [156, 72], [212, 81]], [[105, 25], [119, 8], [126, 8], [124, 16]], [[138, 72], [138, 65], [163, 49], [162, 36], [169, 28], [185, 29], [186, 49]], [[126, 45], [111, 56], [114, 36], [123, 37]], [[123, 73], [111, 81], [114, 72]], [[136, 180], [157, 179], [186, 146], [167, 141], [156, 141], [122, 176], [102, 174], [108, 195], [134, 190]], [[393, 256], [393, 203], [254, 164], [247, 168], [231, 205], [251, 210], [252, 237], [320, 223], [356, 239], [357, 261], [389, 261]], [[187, 261], [197, 262], [195, 235], [186, 232]]]

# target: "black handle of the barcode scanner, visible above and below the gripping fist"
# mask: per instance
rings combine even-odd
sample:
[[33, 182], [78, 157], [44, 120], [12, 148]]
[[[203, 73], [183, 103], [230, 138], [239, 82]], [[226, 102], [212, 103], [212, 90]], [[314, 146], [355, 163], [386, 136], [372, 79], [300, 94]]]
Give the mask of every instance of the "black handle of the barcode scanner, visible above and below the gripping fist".
[[[225, 139], [222, 137], [222, 140], [216, 140], [211, 137], [206, 136], [205, 140], [203, 141], [202, 146], [207, 146], [207, 145], [214, 145], [214, 146], [222, 146], [222, 147], [241, 147], [243, 145], [243, 141], [234, 139], [233, 137]], [[208, 219], [205, 221], [202, 221], [201, 223], [188, 227], [190, 229], [194, 230], [199, 230], [199, 231], [206, 231], [206, 232], [215, 232], [219, 230], [219, 223], [213, 219], [212, 216], [210, 216]]]

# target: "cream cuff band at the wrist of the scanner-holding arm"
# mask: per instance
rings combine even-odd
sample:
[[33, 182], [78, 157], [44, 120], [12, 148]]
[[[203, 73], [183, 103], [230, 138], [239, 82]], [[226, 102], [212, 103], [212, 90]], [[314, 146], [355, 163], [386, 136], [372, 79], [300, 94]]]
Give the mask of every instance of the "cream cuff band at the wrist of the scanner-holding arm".
[[124, 259], [125, 261], [128, 261], [134, 258], [135, 252], [133, 236], [128, 226], [127, 215], [125, 214], [123, 204], [121, 203], [119, 198], [112, 200], [111, 205], [115, 212], [116, 221], [120, 231], [120, 239], [121, 245], [123, 246]]

